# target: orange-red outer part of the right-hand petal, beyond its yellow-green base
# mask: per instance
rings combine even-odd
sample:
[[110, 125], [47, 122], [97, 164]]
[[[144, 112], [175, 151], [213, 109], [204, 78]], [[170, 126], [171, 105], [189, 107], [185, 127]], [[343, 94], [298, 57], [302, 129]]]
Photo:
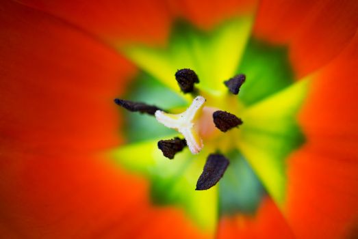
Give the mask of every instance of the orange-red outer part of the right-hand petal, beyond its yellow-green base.
[[[288, 161], [286, 214], [298, 238], [354, 238], [358, 228], [358, 37], [314, 76]], [[355, 235], [357, 236], [357, 234]]]

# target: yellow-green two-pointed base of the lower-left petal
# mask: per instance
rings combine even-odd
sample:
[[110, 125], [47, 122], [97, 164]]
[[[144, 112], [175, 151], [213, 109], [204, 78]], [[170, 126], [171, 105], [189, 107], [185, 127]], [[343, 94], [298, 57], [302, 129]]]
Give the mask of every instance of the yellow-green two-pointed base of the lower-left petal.
[[218, 218], [217, 188], [202, 192], [194, 190], [205, 156], [193, 156], [186, 148], [174, 160], [169, 160], [157, 148], [158, 140], [124, 145], [111, 154], [123, 167], [151, 180], [153, 203], [182, 207], [199, 227], [214, 232]]

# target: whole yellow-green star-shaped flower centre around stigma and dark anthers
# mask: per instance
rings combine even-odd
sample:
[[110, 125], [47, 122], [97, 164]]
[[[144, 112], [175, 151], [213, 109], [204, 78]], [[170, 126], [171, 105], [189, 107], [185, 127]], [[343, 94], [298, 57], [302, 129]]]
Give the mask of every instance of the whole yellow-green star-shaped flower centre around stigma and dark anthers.
[[[220, 215], [255, 214], [262, 197], [272, 197], [281, 208], [285, 160], [304, 139], [296, 115], [308, 83], [294, 82], [284, 47], [249, 38], [252, 23], [253, 16], [243, 16], [210, 32], [178, 23], [165, 47], [120, 49], [141, 69], [129, 94], [121, 98], [182, 112], [192, 96], [181, 92], [174, 74], [190, 68], [200, 79], [195, 85], [198, 94], [207, 100], [205, 106], [211, 107], [199, 124], [204, 126], [216, 110], [237, 115], [244, 122], [225, 133], [208, 126], [199, 154], [184, 149], [168, 160], [157, 142], [173, 139], [178, 133], [153, 116], [123, 112], [127, 144], [113, 151], [116, 161], [150, 180], [153, 203], [180, 206], [208, 230], [215, 230]], [[247, 79], [235, 96], [224, 82], [239, 73]], [[207, 157], [218, 149], [230, 160], [225, 175], [210, 190], [195, 191]]]

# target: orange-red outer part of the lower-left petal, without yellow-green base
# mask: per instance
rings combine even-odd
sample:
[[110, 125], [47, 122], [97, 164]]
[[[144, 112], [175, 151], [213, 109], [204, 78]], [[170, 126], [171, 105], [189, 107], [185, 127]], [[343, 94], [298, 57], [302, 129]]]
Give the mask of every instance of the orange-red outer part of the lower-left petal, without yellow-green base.
[[103, 158], [1, 159], [1, 238], [207, 238], [182, 210], [151, 206], [148, 184]]

